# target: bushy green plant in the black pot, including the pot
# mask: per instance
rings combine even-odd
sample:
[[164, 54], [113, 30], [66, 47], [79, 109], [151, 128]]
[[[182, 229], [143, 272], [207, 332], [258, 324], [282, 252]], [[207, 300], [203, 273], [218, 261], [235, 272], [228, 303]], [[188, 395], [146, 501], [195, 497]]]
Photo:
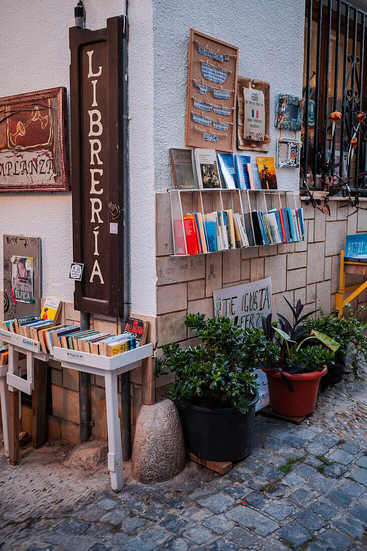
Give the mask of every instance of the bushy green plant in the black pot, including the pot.
[[259, 399], [254, 371], [264, 356], [275, 361], [279, 349], [263, 329], [234, 326], [225, 316], [205, 320], [204, 314], [188, 314], [185, 324], [202, 344], [163, 346], [156, 375], [171, 371], [176, 376], [168, 396], [182, 406], [189, 450], [208, 461], [246, 457]]

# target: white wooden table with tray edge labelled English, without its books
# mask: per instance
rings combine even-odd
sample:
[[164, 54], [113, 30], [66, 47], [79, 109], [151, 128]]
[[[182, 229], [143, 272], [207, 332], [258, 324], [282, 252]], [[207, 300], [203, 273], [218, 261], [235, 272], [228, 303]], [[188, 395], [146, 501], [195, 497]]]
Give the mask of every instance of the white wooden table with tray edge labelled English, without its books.
[[115, 491], [123, 488], [123, 462], [121, 450], [121, 431], [118, 408], [117, 377], [121, 373], [139, 368], [143, 359], [153, 353], [153, 345], [145, 344], [139, 348], [118, 354], [112, 358], [76, 352], [67, 348], [54, 348], [53, 358], [61, 362], [62, 367], [104, 376], [107, 408], [108, 468], [111, 487]]

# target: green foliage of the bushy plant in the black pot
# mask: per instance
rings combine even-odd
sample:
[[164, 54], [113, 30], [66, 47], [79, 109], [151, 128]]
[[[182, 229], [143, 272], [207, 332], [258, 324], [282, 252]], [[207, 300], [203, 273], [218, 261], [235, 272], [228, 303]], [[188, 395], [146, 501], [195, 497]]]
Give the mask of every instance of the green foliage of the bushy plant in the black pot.
[[263, 329], [237, 327], [225, 316], [205, 320], [204, 314], [188, 314], [185, 324], [202, 345], [162, 347], [156, 375], [171, 371], [176, 376], [168, 396], [183, 406], [235, 407], [245, 413], [259, 387], [254, 371], [264, 356], [276, 360], [278, 346], [265, 338]]

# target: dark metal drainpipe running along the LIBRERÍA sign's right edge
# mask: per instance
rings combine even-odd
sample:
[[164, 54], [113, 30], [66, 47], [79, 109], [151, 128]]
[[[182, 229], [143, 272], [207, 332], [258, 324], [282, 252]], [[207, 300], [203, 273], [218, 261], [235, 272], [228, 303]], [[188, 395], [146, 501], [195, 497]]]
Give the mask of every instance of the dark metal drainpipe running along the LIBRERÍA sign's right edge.
[[[124, 285], [124, 317], [129, 316], [129, 165], [127, 160], [128, 129], [129, 120], [127, 103], [127, 16], [124, 18], [123, 30], [123, 82], [121, 83], [121, 94], [123, 96], [123, 117], [122, 117], [122, 163], [123, 163], [123, 213], [124, 213], [124, 266], [123, 266], [123, 285]], [[122, 322], [121, 322], [122, 326]], [[121, 433], [122, 433], [122, 451], [123, 461], [129, 461], [131, 457], [131, 428], [130, 428], [130, 376], [129, 371], [121, 375]]]

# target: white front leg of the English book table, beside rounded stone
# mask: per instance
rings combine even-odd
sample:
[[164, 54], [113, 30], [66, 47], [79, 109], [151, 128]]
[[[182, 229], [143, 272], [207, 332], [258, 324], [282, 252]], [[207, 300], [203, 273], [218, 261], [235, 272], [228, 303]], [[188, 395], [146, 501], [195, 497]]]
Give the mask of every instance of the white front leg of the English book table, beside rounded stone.
[[120, 491], [124, 485], [124, 478], [116, 373], [105, 372], [104, 380], [107, 407], [108, 468], [111, 474], [112, 489]]

